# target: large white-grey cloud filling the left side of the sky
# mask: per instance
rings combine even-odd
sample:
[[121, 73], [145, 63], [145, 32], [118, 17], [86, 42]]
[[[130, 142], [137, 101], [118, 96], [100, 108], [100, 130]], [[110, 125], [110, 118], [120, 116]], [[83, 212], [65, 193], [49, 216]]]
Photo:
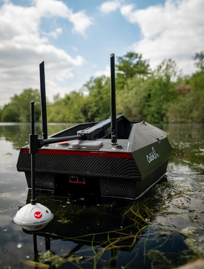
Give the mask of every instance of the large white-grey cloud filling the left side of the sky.
[[62, 84], [68, 84], [73, 68], [81, 66], [84, 59], [80, 55], [73, 58], [49, 44], [49, 37], [57, 38], [62, 28], [44, 33], [40, 29], [44, 17], [51, 22], [53, 17], [70, 20], [74, 24], [73, 31], [84, 36], [92, 22], [85, 11], [73, 13], [62, 1], [35, 0], [30, 7], [4, 3], [0, 7], [0, 105], [27, 87], [39, 88], [39, 63], [43, 60], [49, 93], [70, 90]]

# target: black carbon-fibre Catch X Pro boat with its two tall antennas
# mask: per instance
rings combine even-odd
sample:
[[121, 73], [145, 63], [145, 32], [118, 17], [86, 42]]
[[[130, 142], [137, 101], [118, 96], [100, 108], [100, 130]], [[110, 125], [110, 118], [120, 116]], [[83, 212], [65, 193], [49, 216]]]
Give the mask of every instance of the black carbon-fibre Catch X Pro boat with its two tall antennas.
[[[110, 69], [111, 117], [47, 137], [44, 62], [40, 64], [42, 139], [35, 156], [36, 189], [67, 194], [91, 190], [98, 196], [137, 199], [166, 175], [172, 152], [167, 133], [116, 115], [114, 54]], [[29, 145], [20, 149], [17, 170], [25, 172], [31, 188]]]

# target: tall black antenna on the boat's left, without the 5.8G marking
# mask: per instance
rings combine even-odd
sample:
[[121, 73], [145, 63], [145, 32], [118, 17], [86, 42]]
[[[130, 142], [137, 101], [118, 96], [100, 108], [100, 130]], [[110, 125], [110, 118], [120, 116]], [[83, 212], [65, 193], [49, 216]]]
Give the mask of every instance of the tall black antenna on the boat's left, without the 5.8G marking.
[[41, 97], [42, 139], [47, 139], [48, 129], [47, 129], [44, 61], [40, 64], [40, 97]]

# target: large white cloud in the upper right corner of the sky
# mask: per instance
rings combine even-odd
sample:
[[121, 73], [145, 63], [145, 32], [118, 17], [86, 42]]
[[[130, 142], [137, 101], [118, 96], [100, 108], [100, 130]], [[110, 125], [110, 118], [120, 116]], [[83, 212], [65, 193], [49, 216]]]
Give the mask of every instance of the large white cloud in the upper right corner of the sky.
[[203, 50], [204, 5], [202, 0], [167, 0], [164, 5], [134, 10], [123, 5], [121, 14], [141, 28], [142, 39], [133, 44], [135, 52], [150, 59], [155, 67], [172, 58], [184, 73], [194, 72], [192, 56]]

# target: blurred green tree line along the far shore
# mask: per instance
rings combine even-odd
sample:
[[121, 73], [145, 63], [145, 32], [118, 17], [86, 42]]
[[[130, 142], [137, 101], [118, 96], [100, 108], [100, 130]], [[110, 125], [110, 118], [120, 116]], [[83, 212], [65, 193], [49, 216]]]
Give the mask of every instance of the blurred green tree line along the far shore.
[[[204, 52], [194, 56], [197, 71], [182, 76], [171, 59], [152, 70], [141, 54], [128, 52], [116, 61], [116, 109], [130, 120], [204, 122]], [[30, 101], [40, 121], [40, 91], [26, 89], [0, 109], [2, 122], [29, 122]], [[78, 91], [47, 101], [48, 122], [91, 122], [110, 116], [110, 78], [91, 77]]]

